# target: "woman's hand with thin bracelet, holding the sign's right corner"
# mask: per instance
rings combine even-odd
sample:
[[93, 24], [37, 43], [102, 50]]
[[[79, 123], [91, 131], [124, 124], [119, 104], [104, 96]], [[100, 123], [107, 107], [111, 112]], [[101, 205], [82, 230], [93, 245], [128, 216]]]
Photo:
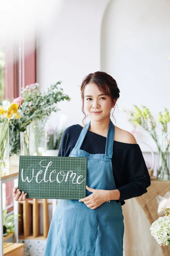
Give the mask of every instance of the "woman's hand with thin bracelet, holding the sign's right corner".
[[84, 202], [88, 208], [94, 210], [104, 202], [108, 201], [108, 190], [92, 189], [88, 186], [86, 186], [86, 189], [92, 192], [92, 194], [85, 198], [79, 199], [79, 202]]

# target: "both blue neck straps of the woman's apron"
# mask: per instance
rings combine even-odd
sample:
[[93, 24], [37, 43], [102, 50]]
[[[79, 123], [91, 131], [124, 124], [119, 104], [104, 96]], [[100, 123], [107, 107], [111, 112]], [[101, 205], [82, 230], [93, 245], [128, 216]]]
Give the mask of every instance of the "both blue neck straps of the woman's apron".
[[[82, 143], [85, 139], [85, 136], [88, 132], [88, 129], [90, 127], [91, 121], [85, 125], [84, 128], [82, 128], [82, 131], [79, 135], [79, 138], [77, 140], [77, 143], [75, 145], [75, 148], [80, 149], [82, 146]], [[108, 128], [108, 135], [107, 135], [107, 140], [106, 140], [106, 148], [105, 148], [105, 158], [111, 159], [113, 156], [113, 142], [114, 142], [114, 134], [115, 134], [115, 128], [113, 123], [110, 120], [109, 123], [109, 128]]]

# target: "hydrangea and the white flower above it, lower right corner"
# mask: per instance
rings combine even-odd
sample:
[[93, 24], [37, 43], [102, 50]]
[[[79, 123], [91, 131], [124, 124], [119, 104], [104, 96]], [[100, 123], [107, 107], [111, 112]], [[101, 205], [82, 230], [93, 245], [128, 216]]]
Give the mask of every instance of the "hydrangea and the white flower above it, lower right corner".
[[159, 202], [158, 214], [165, 215], [153, 222], [150, 232], [160, 245], [170, 246], [170, 191], [164, 197], [158, 195], [156, 199]]

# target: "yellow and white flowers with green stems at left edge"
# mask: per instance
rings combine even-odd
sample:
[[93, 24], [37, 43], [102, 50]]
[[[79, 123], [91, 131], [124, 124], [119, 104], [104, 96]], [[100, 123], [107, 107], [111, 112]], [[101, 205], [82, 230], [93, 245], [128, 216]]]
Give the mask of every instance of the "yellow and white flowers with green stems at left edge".
[[4, 168], [6, 166], [4, 155], [8, 151], [9, 122], [12, 119], [20, 119], [20, 113], [19, 105], [14, 102], [11, 103], [9, 100], [4, 100], [0, 105], [0, 163], [3, 164]]

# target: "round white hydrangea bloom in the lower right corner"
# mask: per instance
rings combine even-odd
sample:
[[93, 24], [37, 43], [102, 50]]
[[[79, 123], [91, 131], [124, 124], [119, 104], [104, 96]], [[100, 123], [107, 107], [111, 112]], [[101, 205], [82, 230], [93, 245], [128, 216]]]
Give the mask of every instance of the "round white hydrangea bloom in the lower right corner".
[[170, 215], [159, 217], [150, 227], [150, 233], [160, 245], [170, 243]]

